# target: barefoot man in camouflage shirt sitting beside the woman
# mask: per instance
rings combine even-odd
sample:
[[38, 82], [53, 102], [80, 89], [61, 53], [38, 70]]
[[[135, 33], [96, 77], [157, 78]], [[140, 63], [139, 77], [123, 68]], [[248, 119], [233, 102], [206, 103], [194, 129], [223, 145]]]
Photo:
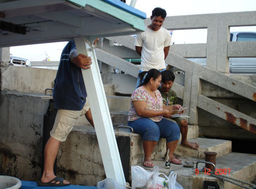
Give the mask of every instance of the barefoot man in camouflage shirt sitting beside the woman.
[[[165, 70], [161, 72], [162, 74], [162, 81], [161, 86], [159, 87], [159, 91], [163, 98], [163, 104], [166, 106], [177, 104], [177, 95], [174, 91], [171, 90], [173, 85], [175, 76], [173, 72], [169, 70]], [[175, 123], [177, 123], [180, 127], [181, 133], [181, 145], [192, 148], [198, 149], [199, 145], [195, 142], [188, 142], [187, 141], [187, 130], [188, 130], [188, 123], [185, 117], [174, 117], [174, 118], [167, 118]]]

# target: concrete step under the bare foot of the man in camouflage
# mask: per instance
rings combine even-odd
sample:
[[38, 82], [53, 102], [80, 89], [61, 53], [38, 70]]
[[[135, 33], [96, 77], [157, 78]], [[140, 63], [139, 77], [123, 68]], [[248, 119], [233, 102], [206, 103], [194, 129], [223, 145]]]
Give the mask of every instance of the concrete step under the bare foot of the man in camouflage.
[[181, 146], [179, 143], [174, 153], [178, 156], [204, 158], [204, 151], [217, 152], [216, 157], [226, 155], [231, 152], [232, 142], [221, 139], [210, 139], [210, 138], [192, 138], [189, 142], [197, 142], [199, 149], [194, 150]]

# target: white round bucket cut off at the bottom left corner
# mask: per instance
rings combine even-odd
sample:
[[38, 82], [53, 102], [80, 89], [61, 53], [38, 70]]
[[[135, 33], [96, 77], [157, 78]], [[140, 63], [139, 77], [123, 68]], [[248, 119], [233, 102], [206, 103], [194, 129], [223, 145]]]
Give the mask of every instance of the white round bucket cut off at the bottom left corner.
[[0, 189], [18, 189], [21, 187], [21, 181], [15, 177], [0, 175]]

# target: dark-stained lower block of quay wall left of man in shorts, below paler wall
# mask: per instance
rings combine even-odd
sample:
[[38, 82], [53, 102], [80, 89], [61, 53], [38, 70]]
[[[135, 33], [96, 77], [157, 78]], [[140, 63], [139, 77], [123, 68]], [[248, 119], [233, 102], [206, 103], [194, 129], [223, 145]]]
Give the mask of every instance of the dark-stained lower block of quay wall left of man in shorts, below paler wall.
[[49, 99], [0, 94], [0, 175], [36, 181], [41, 177], [43, 115]]

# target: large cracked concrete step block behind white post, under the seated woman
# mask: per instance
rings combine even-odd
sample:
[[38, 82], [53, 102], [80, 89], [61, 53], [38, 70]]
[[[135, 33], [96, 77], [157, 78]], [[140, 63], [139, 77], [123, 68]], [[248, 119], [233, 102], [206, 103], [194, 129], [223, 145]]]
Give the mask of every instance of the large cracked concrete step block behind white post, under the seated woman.
[[[125, 156], [128, 169], [124, 171], [129, 175], [130, 165], [143, 161], [144, 152], [142, 137], [131, 132], [116, 132], [115, 136], [129, 141], [129, 155]], [[119, 152], [126, 146], [119, 146]], [[160, 139], [152, 157], [161, 158], [165, 153], [165, 140]], [[124, 167], [124, 165], [123, 165]], [[57, 157], [57, 174], [71, 181], [72, 184], [97, 185], [105, 179], [105, 171], [97, 142], [95, 129], [90, 126], [75, 126], [65, 142], [60, 145]]]

